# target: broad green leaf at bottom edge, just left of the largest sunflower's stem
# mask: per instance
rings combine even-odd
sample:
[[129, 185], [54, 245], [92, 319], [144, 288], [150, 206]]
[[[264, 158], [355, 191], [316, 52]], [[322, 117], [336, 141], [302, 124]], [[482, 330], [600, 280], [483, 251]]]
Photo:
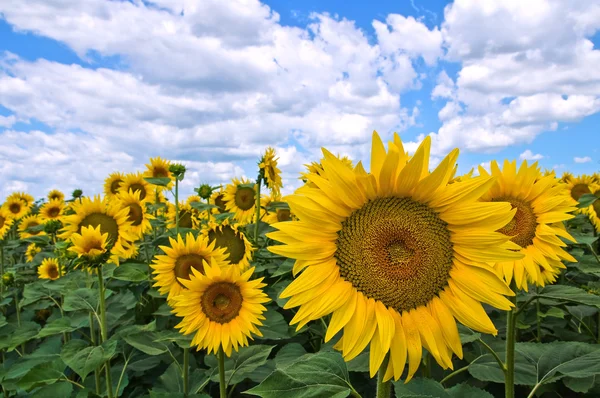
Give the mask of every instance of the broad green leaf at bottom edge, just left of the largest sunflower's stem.
[[246, 394], [263, 398], [347, 397], [352, 391], [346, 363], [337, 352], [299, 357], [285, 369], [275, 369]]

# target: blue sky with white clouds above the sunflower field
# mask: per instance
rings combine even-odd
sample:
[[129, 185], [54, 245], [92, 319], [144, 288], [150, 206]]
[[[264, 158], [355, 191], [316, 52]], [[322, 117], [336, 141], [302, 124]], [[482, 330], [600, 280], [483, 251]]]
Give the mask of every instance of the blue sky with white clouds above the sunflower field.
[[459, 147], [461, 172], [593, 172], [599, 31], [597, 0], [2, 0], [0, 201], [154, 156], [191, 193], [268, 145], [289, 191], [322, 146], [368, 160], [373, 130]]

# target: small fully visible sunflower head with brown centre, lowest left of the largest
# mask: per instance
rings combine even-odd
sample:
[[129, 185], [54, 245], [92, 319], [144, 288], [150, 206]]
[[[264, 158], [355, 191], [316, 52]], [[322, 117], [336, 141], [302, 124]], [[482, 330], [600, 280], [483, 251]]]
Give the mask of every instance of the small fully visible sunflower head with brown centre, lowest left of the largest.
[[187, 335], [195, 333], [192, 346], [219, 351], [231, 356], [231, 349], [248, 345], [252, 333], [262, 336], [257, 326], [266, 318], [264, 303], [270, 301], [262, 291], [263, 278], [250, 280], [254, 268], [242, 273], [237, 267], [221, 267], [218, 261], [205, 262], [206, 274], [194, 269], [190, 278], [180, 278], [185, 286], [173, 300], [173, 313], [183, 318], [175, 326]]

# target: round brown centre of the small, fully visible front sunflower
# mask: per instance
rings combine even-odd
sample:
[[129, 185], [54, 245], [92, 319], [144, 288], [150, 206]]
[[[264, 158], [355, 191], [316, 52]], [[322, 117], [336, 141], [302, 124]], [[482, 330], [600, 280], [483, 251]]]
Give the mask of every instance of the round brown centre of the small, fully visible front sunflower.
[[213, 283], [200, 298], [202, 311], [206, 317], [221, 324], [238, 316], [242, 309], [242, 302], [240, 288], [231, 282]]

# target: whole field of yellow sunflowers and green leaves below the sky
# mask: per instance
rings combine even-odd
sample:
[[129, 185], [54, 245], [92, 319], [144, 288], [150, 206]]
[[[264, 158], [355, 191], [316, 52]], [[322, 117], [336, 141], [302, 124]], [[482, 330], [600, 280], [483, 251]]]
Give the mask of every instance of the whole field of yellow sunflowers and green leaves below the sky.
[[152, 158], [0, 207], [4, 397], [600, 396], [600, 175], [374, 132], [282, 195]]

